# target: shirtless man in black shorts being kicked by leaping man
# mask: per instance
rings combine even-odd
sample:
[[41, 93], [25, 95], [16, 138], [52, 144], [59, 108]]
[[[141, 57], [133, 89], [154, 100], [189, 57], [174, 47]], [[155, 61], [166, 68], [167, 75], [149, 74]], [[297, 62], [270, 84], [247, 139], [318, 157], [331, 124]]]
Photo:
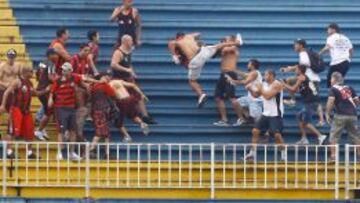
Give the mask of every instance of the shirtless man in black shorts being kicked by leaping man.
[[[222, 42], [235, 42], [235, 36], [228, 36]], [[226, 76], [236, 80], [238, 75], [236, 73], [237, 62], [239, 60], [239, 50], [236, 46], [225, 47], [221, 51], [221, 75], [215, 88], [215, 101], [220, 114], [220, 121], [215, 122], [215, 126], [229, 126], [226, 115], [225, 100], [229, 99], [235, 112], [240, 119], [240, 105], [235, 96], [235, 86], [231, 85]]]

